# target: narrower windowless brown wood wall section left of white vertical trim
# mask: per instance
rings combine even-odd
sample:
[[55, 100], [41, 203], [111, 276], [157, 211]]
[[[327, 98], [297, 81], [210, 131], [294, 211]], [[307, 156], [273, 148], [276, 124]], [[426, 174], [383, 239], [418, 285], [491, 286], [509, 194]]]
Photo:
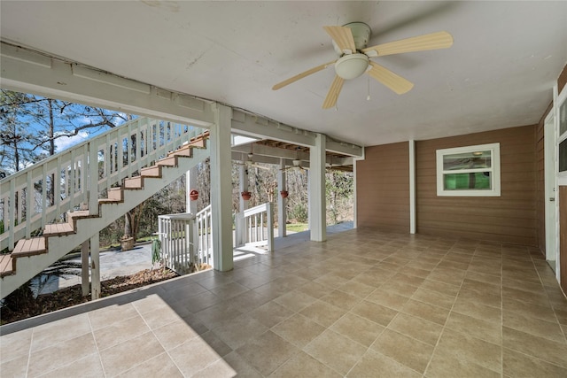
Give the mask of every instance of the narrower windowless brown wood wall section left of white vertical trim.
[[364, 149], [356, 163], [356, 221], [359, 228], [409, 232], [409, 145]]

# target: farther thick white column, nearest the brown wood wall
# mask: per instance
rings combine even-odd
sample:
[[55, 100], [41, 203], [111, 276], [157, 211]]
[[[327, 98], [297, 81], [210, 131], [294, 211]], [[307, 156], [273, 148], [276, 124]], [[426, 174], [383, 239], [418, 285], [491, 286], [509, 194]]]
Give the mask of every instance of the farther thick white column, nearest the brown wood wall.
[[325, 135], [317, 134], [315, 146], [309, 148], [309, 228], [314, 242], [327, 240], [325, 139]]

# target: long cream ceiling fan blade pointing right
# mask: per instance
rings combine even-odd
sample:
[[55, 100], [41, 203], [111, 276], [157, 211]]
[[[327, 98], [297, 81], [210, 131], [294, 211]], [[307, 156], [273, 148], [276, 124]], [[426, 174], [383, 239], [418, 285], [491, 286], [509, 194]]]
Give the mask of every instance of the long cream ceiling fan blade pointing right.
[[437, 32], [429, 35], [418, 35], [400, 41], [378, 44], [362, 49], [362, 52], [365, 54], [369, 52], [369, 54], [367, 54], [369, 57], [384, 57], [384, 55], [401, 54], [404, 52], [447, 49], [452, 45], [452, 35], [447, 32]]

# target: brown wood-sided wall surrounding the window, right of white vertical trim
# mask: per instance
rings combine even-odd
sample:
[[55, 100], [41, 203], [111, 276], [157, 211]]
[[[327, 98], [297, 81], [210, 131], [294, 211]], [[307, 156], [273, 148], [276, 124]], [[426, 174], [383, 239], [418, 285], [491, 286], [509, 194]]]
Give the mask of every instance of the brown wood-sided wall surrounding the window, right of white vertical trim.
[[[437, 197], [435, 151], [501, 143], [501, 197]], [[417, 233], [537, 245], [536, 126], [416, 143]]]

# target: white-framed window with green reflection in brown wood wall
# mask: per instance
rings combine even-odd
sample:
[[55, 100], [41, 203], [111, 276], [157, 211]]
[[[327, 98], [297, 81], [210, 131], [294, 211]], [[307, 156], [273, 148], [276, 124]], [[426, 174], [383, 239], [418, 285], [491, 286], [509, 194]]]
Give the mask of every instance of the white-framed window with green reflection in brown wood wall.
[[437, 195], [500, 197], [500, 143], [437, 150]]

